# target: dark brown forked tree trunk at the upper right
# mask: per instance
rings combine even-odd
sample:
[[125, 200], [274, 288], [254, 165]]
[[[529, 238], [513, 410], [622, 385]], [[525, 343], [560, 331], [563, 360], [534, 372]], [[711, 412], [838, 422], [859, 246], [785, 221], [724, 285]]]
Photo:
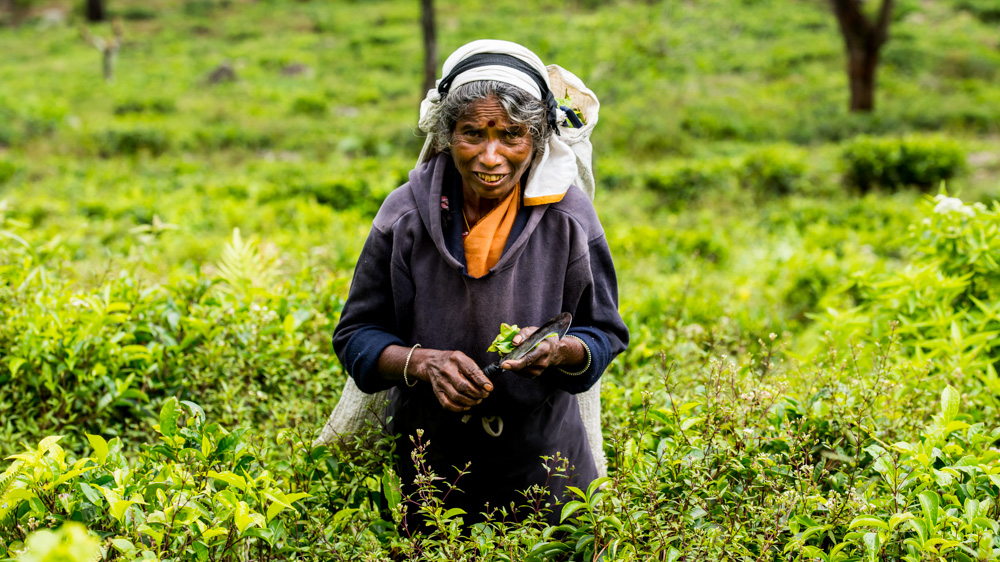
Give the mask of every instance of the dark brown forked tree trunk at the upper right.
[[875, 108], [875, 71], [879, 51], [889, 38], [894, 0], [882, 0], [875, 21], [865, 14], [863, 0], [831, 0], [847, 48], [851, 111]]

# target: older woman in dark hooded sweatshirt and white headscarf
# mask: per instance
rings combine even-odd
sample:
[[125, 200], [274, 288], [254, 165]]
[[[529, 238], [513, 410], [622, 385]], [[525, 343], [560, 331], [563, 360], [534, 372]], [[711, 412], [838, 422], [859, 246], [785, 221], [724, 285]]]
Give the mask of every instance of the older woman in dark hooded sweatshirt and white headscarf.
[[[362, 391], [390, 390], [405, 492], [418, 430], [438, 476], [454, 480], [452, 467], [468, 464], [447, 505], [470, 523], [487, 505], [523, 504], [531, 485], [555, 504], [596, 477], [573, 394], [625, 349], [628, 330], [541, 60], [476, 41], [443, 70], [422, 107], [425, 161], [375, 217], [333, 345]], [[566, 337], [484, 376], [502, 322], [539, 326], [560, 312], [573, 315]], [[565, 459], [566, 478], [550, 478], [542, 457]]]

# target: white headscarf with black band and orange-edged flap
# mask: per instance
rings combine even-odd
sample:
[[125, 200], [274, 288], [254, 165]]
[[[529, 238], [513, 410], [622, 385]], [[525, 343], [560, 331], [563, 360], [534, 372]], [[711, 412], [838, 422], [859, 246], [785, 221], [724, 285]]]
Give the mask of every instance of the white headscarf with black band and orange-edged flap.
[[[485, 60], [472, 64], [471, 68], [462, 69], [460, 67], [460, 65], [468, 66], [462, 65], [463, 61], [485, 54], [506, 55], [510, 58], [503, 61], [503, 57], [501, 57], [501, 60], [498, 61], [490, 57], [478, 57]], [[479, 66], [478, 64], [483, 65]], [[453, 71], [456, 68], [459, 68], [459, 72], [453, 76]], [[532, 70], [534, 73], [531, 72]], [[481, 39], [468, 43], [452, 53], [444, 62], [442, 75], [442, 78], [437, 81], [437, 85], [427, 91], [427, 97], [420, 103], [419, 127], [421, 131], [428, 133], [428, 136], [424, 142], [423, 150], [420, 151], [417, 164], [426, 162], [433, 154], [434, 139], [432, 133], [440, 118], [442, 99], [439, 89], [446, 89], [445, 95], [447, 95], [447, 91], [477, 80], [505, 82], [521, 88], [548, 105], [549, 123], [554, 125], [553, 134], [549, 137], [541, 156], [536, 156], [532, 161], [531, 171], [524, 183], [524, 204], [531, 206], [561, 201], [577, 178], [577, 156], [570, 146], [559, 137], [559, 129], [555, 125], [563, 121], [565, 114], [555, 104], [548, 70], [538, 55], [510, 41]]]

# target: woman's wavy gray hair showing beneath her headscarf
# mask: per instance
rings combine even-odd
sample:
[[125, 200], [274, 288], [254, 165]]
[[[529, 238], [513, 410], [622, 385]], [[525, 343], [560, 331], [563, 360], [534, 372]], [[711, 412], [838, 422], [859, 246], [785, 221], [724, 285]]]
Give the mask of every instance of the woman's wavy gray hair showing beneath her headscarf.
[[434, 127], [434, 148], [438, 152], [448, 152], [455, 125], [469, 106], [477, 101], [495, 97], [507, 111], [510, 120], [528, 129], [534, 155], [540, 156], [552, 136], [548, 122], [548, 108], [541, 101], [517, 86], [497, 80], [477, 80], [462, 84], [441, 100], [440, 116]]

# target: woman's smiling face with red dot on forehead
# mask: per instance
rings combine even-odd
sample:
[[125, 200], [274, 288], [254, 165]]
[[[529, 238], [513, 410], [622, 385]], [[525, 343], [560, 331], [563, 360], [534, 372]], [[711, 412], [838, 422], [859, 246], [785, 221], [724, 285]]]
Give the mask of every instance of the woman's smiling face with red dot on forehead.
[[495, 97], [469, 106], [451, 135], [451, 157], [462, 184], [483, 199], [506, 197], [531, 163], [527, 127], [510, 120]]

